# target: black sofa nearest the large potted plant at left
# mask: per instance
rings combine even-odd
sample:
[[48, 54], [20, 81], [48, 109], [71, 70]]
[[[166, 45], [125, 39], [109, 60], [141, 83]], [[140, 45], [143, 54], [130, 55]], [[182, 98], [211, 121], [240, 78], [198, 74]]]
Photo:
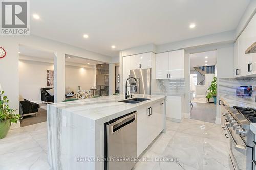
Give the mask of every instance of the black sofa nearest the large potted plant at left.
[[27, 99], [24, 99], [24, 101], [19, 101], [19, 105], [19, 109], [22, 109], [19, 114], [22, 117], [33, 114], [37, 116], [38, 108], [40, 108], [39, 104], [31, 102]]

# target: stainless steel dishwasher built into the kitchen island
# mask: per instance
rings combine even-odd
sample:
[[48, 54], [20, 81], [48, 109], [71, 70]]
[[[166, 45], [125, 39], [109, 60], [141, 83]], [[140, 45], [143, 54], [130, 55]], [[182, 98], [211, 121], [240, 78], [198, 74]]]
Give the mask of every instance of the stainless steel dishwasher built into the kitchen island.
[[132, 169], [137, 158], [137, 112], [105, 123], [104, 138], [104, 169]]

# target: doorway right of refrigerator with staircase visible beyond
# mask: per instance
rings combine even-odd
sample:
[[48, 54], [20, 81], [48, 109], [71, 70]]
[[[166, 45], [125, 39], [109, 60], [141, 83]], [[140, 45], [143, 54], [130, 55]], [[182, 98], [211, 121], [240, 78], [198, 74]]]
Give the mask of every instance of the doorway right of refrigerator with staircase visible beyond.
[[217, 50], [193, 53], [189, 57], [191, 119], [215, 123], [216, 104], [214, 98], [207, 98], [207, 94], [217, 75]]

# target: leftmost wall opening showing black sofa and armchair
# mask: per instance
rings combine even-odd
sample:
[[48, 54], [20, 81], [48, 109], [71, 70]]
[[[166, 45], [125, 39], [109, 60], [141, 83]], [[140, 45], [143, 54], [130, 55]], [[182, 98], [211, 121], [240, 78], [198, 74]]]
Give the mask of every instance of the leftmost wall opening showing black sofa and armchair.
[[47, 104], [54, 103], [54, 52], [19, 45], [20, 126], [47, 121]]

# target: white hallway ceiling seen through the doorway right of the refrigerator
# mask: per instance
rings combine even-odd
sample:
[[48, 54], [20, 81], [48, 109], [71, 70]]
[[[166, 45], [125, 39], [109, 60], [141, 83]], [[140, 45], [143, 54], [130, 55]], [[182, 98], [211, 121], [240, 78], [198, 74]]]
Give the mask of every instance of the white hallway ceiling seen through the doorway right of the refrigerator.
[[[208, 57], [207, 59], [205, 57]], [[202, 53], [190, 54], [190, 70], [194, 70], [193, 67], [205, 66], [207, 61], [207, 66], [216, 65], [217, 63], [217, 51], [207, 51]]]

